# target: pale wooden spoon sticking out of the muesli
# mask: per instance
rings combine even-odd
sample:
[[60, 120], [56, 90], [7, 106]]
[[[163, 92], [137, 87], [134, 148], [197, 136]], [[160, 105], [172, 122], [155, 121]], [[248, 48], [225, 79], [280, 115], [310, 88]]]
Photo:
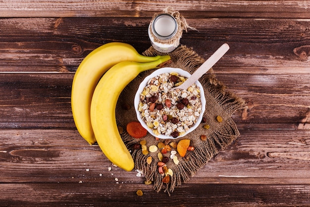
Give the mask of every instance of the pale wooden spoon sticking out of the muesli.
[[184, 83], [181, 85], [172, 88], [173, 89], [187, 89], [190, 87], [196, 80], [198, 80], [203, 74], [205, 74], [209, 69], [214, 66], [221, 57], [229, 50], [228, 44], [224, 43], [219, 47], [213, 55], [211, 55], [203, 65], [201, 65]]

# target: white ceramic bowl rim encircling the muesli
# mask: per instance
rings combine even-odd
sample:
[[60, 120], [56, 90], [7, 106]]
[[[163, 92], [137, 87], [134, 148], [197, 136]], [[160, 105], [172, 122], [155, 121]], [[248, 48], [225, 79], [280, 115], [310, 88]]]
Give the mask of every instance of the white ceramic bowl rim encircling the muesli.
[[[145, 88], [145, 86], [147, 85], [148, 81], [152, 78], [152, 77], [155, 77], [159, 74], [162, 74], [162, 73], [165, 73], [165, 72], [177, 72], [179, 75], [181, 76], [184, 76], [184, 77], [189, 77], [191, 74], [183, 69], [177, 69], [177, 68], [161, 68], [161, 69], [157, 69], [155, 70], [152, 74], [150, 74], [149, 76], [147, 76], [141, 83], [140, 83], [140, 86], [137, 90], [137, 93], [135, 95], [135, 100], [134, 100], [134, 105], [135, 105], [135, 110], [136, 110], [136, 114], [137, 114], [137, 118], [139, 120], [139, 122], [142, 124], [142, 126], [151, 134], [153, 135], [154, 137], [156, 138], [170, 138], [170, 139], [173, 139], [172, 136], [165, 136], [165, 135], [155, 135], [153, 133], [153, 130], [150, 129], [147, 124], [142, 120], [142, 118], [140, 117], [140, 113], [138, 111], [138, 108], [139, 108], [139, 103], [140, 103], [140, 94], [142, 93], [143, 89]], [[200, 113], [200, 116], [198, 118], [198, 121], [196, 122], [195, 125], [193, 125], [192, 127], [190, 127], [190, 129], [180, 135], [179, 137], [177, 138], [180, 138], [180, 137], [184, 137], [185, 135], [193, 132], [198, 126], [199, 124], [201, 123], [202, 119], [203, 119], [203, 116], [204, 116], [204, 112], [205, 112], [205, 109], [206, 109], [206, 97], [205, 97], [205, 92], [204, 92], [204, 88], [203, 86], [201, 85], [201, 83], [199, 81], [196, 81], [195, 82], [197, 84], [197, 86], [200, 88], [200, 94], [201, 94], [201, 103], [202, 103], [202, 112]]]

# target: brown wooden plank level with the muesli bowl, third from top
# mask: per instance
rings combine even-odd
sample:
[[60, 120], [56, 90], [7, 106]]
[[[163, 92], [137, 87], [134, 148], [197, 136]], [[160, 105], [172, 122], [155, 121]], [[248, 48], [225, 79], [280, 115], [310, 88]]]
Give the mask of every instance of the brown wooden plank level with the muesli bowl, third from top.
[[[0, 127], [75, 128], [70, 100], [73, 76], [70, 72], [0, 73], [0, 95], [5, 97], [0, 100]], [[240, 128], [309, 129], [309, 76], [221, 73], [217, 78], [248, 103], [248, 110], [233, 116]]]

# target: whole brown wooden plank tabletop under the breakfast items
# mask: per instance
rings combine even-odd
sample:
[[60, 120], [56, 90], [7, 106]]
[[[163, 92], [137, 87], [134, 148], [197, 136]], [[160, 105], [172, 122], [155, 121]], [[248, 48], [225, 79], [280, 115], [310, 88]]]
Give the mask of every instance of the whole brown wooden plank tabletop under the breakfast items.
[[[81, 138], [70, 105], [83, 58], [113, 41], [142, 53], [167, 6], [201, 57], [230, 45], [213, 69], [249, 107], [233, 115], [241, 136], [170, 197]], [[309, 56], [309, 0], [0, 1], [0, 207], [310, 206]]]

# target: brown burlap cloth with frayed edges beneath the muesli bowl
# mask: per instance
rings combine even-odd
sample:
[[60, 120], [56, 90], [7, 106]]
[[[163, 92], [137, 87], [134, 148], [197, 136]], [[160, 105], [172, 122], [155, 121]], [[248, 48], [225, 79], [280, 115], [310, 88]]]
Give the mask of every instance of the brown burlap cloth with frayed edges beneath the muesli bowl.
[[[165, 54], [159, 53], [151, 47], [144, 52], [144, 55], [156, 56]], [[186, 46], [179, 46], [176, 50], [168, 53], [168, 55], [171, 56], [172, 62], [165, 67], [184, 69], [191, 74], [205, 62], [195, 51]], [[132, 152], [135, 168], [143, 171], [146, 181], [152, 181], [156, 192], [164, 188], [164, 191], [170, 195], [175, 186], [180, 186], [182, 182], [188, 181], [191, 175], [195, 174], [208, 160], [210, 160], [210, 158], [218, 153], [218, 150], [224, 149], [239, 136], [239, 131], [231, 115], [236, 110], [244, 108], [245, 103], [241, 98], [226, 91], [225, 86], [215, 78], [211, 69], [199, 79], [204, 87], [207, 100], [204, 114], [206, 123], [201, 123], [196, 130], [182, 138], [156, 140], [155, 137], [149, 133], [144, 138], [132, 138], [126, 132], [126, 125], [129, 122], [138, 121], [134, 109], [134, 96], [141, 81], [153, 71], [155, 71], [155, 69], [140, 73], [140, 75], [123, 90], [116, 107], [116, 121], [117, 124], [124, 129], [121, 136], [128, 149]], [[130, 106], [130, 108], [128, 106]], [[216, 120], [217, 116], [223, 118], [221, 123]], [[205, 124], [209, 125], [210, 128], [205, 129]], [[201, 135], [206, 135], [207, 140], [202, 140]], [[191, 145], [194, 146], [195, 149], [194, 151], [187, 151], [185, 157], [180, 157], [177, 154], [176, 156], [178, 156], [180, 161], [178, 165], [170, 159], [169, 151], [167, 154], [163, 154], [169, 157], [169, 161], [166, 165], [173, 172], [168, 184], [162, 182], [163, 176], [158, 172], [157, 162], [159, 159], [157, 153], [160, 152], [160, 149], [156, 152], [150, 152], [147, 155], [142, 153], [141, 148], [133, 149], [133, 145], [136, 143], [139, 144], [141, 140], [146, 140], [147, 146], [149, 147], [150, 145], [157, 145], [158, 142], [165, 142], [168, 144], [172, 140], [178, 142], [184, 138], [190, 139]], [[147, 163], [147, 158], [149, 156], [153, 158], [151, 164]]]

